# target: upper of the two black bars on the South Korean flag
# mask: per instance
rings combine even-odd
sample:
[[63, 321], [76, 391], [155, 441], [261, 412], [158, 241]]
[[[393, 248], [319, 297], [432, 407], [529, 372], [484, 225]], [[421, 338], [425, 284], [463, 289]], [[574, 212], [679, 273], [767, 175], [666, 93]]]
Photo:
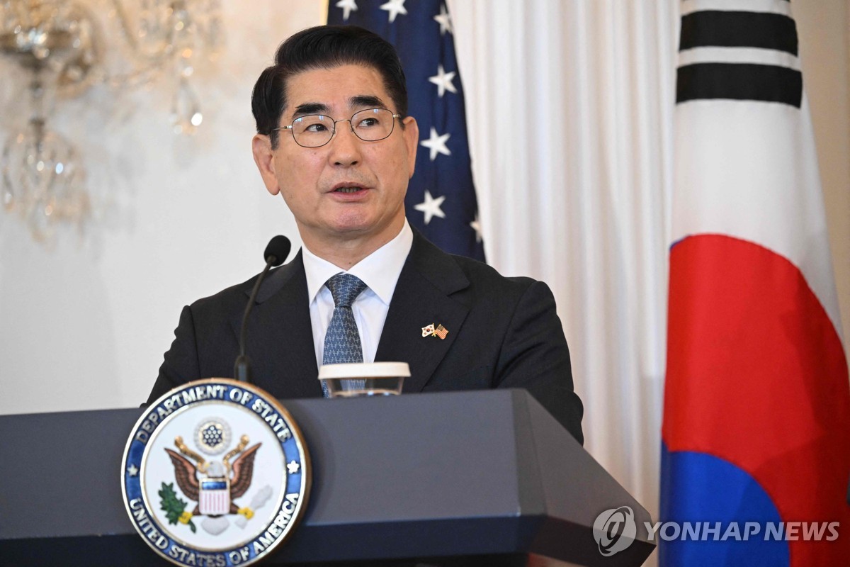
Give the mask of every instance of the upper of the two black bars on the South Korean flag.
[[706, 10], [682, 16], [679, 50], [764, 48], [797, 54], [794, 20], [783, 14]]

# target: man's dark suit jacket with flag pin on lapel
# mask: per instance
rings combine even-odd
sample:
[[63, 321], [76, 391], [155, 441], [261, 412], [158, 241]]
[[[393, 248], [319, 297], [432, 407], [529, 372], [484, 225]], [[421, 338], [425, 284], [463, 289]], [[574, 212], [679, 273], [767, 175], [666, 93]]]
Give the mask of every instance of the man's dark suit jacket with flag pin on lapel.
[[[183, 309], [150, 400], [201, 377], [233, 376], [242, 314], [256, 276]], [[442, 324], [445, 340], [422, 337]], [[254, 383], [280, 399], [321, 397], [301, 252], [275, 269], [248, 320]], [[548, 286], [452, 256], [414, 231], [375, 360], [411, 366], [407, 392], [526, 388], [580, 442], [581, 400]]]

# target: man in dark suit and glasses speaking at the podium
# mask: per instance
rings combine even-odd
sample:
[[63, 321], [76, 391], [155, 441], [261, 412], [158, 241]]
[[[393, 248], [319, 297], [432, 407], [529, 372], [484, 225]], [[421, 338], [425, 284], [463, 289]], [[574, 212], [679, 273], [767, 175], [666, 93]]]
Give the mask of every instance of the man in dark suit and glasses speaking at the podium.
[[[284, 399], [320, 397], [319, 364], [405, 361], [405, 393], [526, 388], [581, 442], [546, 284], [441, 252], [405, 220], [418, 128], [394, 48], [353, 26], [298, 32], [259, 77], [252, 110], [254, 160], [304, 244], [263, 282], [248, 321], [254, 382]], [[184, 308], [150, 401], [232, 375], [253, 282]], [[431, 324], [448, 332], [425, 336]]]

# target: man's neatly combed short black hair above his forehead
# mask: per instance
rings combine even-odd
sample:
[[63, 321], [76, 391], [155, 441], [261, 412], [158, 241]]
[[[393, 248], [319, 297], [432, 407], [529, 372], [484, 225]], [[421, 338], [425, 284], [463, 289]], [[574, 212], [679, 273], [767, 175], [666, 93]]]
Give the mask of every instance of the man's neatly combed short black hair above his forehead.
[[[286, 81], [302, 71], [330, 69], [339, 65], [365, 65], [381, 74], [383, 86], [395, 105], [407, 116], [405, 71], [393, 46], [359, 26], [316, 26], [298, 31], [280, 44], [275, 65], [260, 74], [251, 95], [251, 110], [257, 133], [267, 134], [277, 147], [280, 115], [286, 108]], [[339, 116], [334, 116], [338, 118]], [[402, 128], [404, 123], [400, 122]]]

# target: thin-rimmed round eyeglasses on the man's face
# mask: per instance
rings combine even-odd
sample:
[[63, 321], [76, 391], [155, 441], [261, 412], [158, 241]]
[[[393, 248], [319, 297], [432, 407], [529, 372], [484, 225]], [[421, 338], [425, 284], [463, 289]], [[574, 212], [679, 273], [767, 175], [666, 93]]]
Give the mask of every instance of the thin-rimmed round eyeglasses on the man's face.
[[318, 148], [326, 145], [337, 132], [337, 122], [348, 122], [348, 126], [354, 135], [364, 142], [377, 142], [388, 138], [393, 133], [395, 119], [400, 114], [393, 114], [385, 108], [370, 108], [365, 111], [354, 112], [351, 118], [334, 120], [331, 116], [323, 114], [310, 114], [298, 116], [289, 126], [275, 128], [278, 130], [289, 130], [297, 145], [304, 148]]

